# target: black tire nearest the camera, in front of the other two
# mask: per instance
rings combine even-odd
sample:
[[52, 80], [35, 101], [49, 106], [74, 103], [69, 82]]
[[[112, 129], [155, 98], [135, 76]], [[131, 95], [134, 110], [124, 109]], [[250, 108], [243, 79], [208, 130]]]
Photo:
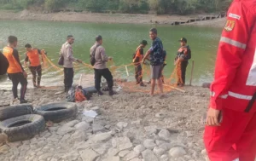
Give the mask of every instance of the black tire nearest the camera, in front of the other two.
[[[22, 124], [12, 127], [14, 124]], [[25, 124], [26, 123], [26, 124]], [[0, 129], [8, 135], [8, 141], [24, 141], [43, 131], [45, 127], [44, 117], [30, 114], [3, 120]]]

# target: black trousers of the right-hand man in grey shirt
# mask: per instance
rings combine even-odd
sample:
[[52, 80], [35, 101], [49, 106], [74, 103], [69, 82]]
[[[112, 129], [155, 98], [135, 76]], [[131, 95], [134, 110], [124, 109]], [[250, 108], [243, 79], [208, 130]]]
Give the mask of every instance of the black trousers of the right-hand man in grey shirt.
[[108, 88], [113, 89], [113, 76], [111, 72], [106, 69], [94, 69], [94, 74], [95, 74], [95, 88], [96, 90], [100, 91], [101, 90], [101, 81], [102, 77], [107, 80], [108, 83]]

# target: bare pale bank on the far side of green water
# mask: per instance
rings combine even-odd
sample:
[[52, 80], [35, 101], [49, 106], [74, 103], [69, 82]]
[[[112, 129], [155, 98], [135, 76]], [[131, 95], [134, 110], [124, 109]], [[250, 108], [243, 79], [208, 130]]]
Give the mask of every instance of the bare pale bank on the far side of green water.
[[[15, 12], [11, 10], [0, 10], [0, 20], [47, 20], [66, 22], [89, 22], [109, 24], [160, 24], [170, 25], [173, 21], [189, 20], [189, 18], [200, 15], [155, 15], [155, 14], [98, 14], [98, 13], [76, 13], [59, 12], [44, 14], [23, 10]], [[187, 26], [224, 26], [224, 18], [216, 20], [204, 20], [186, 24]]]

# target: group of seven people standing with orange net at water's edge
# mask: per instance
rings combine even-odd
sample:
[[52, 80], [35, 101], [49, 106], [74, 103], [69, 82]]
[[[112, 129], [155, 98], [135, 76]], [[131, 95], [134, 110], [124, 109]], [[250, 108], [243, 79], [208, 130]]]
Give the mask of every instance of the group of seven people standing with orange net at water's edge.
[[[143, 40], [141, 44], [137, 47], [137, 51], [133, 56], [133, 63], [135, 65], [136, 72], [136, 81], [137, 84], [145, 87], [146, 85], [143, 83], [143, 67], [142, 63], [145, 63], [146, 60], [150, 61], [150, 71], [151, 71], [151, 95], [154, 95], [154, 87], [157, 81], [157, 84], [160, 89], [160, 94], [163, 95], [163, 68], [166, 66], [166, 50], [164, 50], [163, 43], [160, 38], [157, 37], [157, 30], [152, 28], [149, 31], [149, 37], [152, 39], [153, 43], [150, 49], [143, 54], [143, 49], [148, 45], [146, 40]], [[182, 38], [180, 40], [181, 48], [178, 49], [177, 57], [175, 59], [179, 66], [180, 74], [177, 81], [177, 85], [183, 86], [185, 83], [185, 72], [186, 67], [188, 65], [188, 60], [191, 58], [191, 52], [189, 46], [186, 46], [187, 40]], [[73, 56], [73, 45], [74, 37], [72, 35], [67, 36], [66, 43], [63, 43], [61, 46], [60, 55], [63, 58], [63, 62], [61, 66], [64, 68], [64, 86], [65, 92], [67, 92], [73, 85], [73, 62], [82, 63], [82, 60], [76, 59]], [[96, 36], [96, 43], [90, 48], [90, 56], [93, 56], [95, 59], [95, 63], [93, 64], [94, 72], [95, 72], [95, 88], [98, 95], [103, 95], [101, 89], [102, 77], [107, 80], [108, 83], [108, 91], [109, 95], [114, 95], [113, 91], [113, 76], [107, 67], [108, 60], [112, 60], [112, 57], [106, 55], [106, 51], [102, 46], [103, 38], [102, 36]], [[17, 87], [18, 84], [21, 84], [20, 89], [20, 103], [26, 103], [25, 94], [27, 88], [27, 74], [20, 63], [20, 56], [18, 50], [15, 49], [18, 44], [18, 38], [14, 36], [8, 37], [8, 46], [3, 49], [3, 55], [8, 60], [9, 67], [7, 69], [7, 73], [9, 79], [13, 83], [13, 95], [14, 99], [18, 100], [18, 92]], [[32, 73], [32, 83], [35, 88], [40, 88], [41, 85], [41, 77], [42, 77], [42, 66], [40, 61], [40, 55], [46, 55], [44, 49], [34, 49], [32, 45], [27, 43], [25, 45], [26, 48], [26, 58], [24, 61], [24, 65], [27, 66], [27, 62], [29, 62], [29, 69]], [[143, 56], [144, 55], [144, 56]], [[42, 56], [42, 61], [44, 61]]]

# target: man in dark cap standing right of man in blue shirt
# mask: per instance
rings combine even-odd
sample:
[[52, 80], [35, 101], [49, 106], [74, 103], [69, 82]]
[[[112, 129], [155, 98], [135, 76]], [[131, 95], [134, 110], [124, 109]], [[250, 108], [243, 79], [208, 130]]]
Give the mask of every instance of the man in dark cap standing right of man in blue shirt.
[[187, 45], [187, 39], [182, 37], [180, 40], [180, 48], [177, 50], [175, 64], [177, 66], [177, 85], [183, 87], [185, 84], [186, 70], [191, 59], [191, 50]]

